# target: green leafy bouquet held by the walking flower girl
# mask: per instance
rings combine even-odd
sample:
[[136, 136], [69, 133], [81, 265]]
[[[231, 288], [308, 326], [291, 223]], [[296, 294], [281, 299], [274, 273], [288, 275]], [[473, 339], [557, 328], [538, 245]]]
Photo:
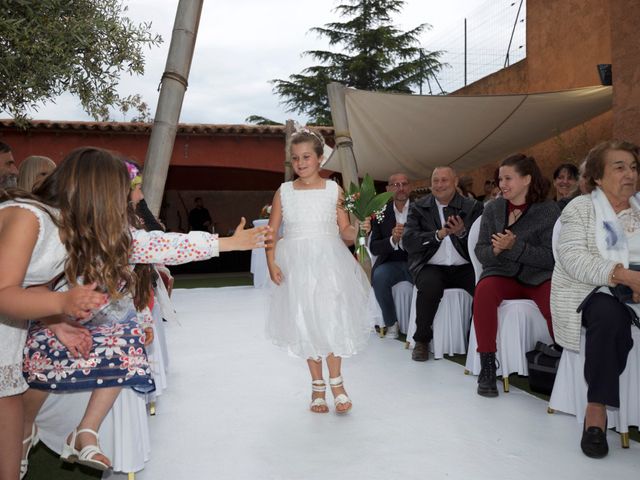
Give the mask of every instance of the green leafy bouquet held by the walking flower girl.
[[369, 174], [364, 176], [359, 186], [352, 183], [345, 193], [344, 209], [360, 221], [360, 228], [356, 237], [356, 255], [362, 265], [369, 259], [365, 246], [366, 234], [362, 228], [362, 222], [367, 218], [378, 223], [384, 220], [384, 210], [391, 197], [393, 197], [392, 192], [376, 194], [373, 179]]

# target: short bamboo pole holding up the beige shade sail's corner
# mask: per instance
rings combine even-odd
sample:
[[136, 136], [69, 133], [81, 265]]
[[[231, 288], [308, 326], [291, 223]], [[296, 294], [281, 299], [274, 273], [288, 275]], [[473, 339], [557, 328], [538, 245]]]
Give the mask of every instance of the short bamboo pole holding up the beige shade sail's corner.
[[358, 165], [353, 154], [353, 140], [351, 139], [351, 133], [349, 133], [344, 92], [345, 86], [340, 83], [331, 82], [327, 85], [336, 149], [338, 150], [337, 154], [342, 167], [342, 185], [347, 190], [351, 183], [358, 184]]

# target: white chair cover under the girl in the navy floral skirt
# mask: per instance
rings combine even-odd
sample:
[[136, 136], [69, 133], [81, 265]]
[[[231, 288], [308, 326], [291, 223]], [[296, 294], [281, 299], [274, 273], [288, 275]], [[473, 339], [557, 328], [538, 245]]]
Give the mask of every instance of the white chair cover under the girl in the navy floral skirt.
[[[90, 391], [54, 393], [42, 406], [36, 425], [44, 444], [56, 453], [66, 437], [80, 423]], [[151, 441], [145, 396], [122, 389], [100, 428], [100, 446], [115, 472], [138, 472], [149, 461]]]

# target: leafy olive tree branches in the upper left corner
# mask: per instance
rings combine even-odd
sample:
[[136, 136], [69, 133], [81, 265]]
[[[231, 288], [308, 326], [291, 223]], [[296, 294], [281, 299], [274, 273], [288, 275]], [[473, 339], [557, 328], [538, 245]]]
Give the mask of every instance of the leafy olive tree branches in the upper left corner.
[[144, 73], [143, 47], [162, 38], [134, 24], [122, 0], [0, 0], [0, 12], [0, 111], [24, 122], [70, 92], [96, 120], [110, 107], [143, 114], [139, 95], [116, 89], [124, 73]]

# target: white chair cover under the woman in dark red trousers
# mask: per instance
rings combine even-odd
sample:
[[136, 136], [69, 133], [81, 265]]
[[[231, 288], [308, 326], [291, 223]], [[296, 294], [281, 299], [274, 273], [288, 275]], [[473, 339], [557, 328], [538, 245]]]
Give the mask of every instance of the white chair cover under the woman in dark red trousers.
[[[481, 221], [482, 217], [479, 217], [473, 223], [467, 241], [469, 256], [476, 273], [476, 283], [482, 275], [483, 268], [475, 252]], [[526, 353], [533, 350], [538, 341], [551, 343], [553, 340], [549, 335], [547, 322], [537, 305], [533, 301], [525, 299], [504, 300], [498, 307], [498, 336], [496, 338], [498, 375], [503, 377], [508, 377], [511, 373], [529, 375]], [[472, 326], [465, 367], [473, 375], [480, 373], [480, 354], [477, 352], [477, 348], [476, 332]]]

